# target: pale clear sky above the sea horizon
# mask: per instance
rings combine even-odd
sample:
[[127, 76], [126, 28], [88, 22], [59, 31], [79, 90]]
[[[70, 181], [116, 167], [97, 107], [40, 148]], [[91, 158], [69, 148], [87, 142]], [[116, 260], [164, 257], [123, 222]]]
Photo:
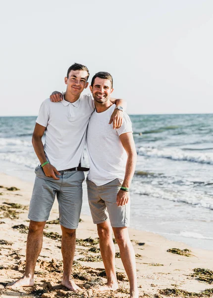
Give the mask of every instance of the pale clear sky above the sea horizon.
[[74, 62], [129, 114], [213, 113], [213, 0], [2, 0], [0, 28], [0, 116], [37, 115]]

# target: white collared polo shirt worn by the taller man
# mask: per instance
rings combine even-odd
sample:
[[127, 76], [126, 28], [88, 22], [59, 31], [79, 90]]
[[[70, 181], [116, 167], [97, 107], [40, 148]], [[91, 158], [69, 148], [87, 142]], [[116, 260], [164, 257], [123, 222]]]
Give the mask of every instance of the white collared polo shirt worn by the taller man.
[[58, 170], [79, 165], [86, 141], [86, 130], [95, 108], [90, 94], [81, 95], [73, 103], [46, 99], [36, 122], [46, 129], [44, 150], [50, 163]]

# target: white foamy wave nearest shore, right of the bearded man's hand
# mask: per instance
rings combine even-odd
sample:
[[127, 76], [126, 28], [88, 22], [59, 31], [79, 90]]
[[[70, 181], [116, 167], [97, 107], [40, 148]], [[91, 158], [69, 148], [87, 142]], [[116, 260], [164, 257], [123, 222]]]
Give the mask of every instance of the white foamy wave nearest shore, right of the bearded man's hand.
[[161, 198], [173, 202], [181, 202], [196, 207], [203, 207], [213, 210], [213, 198], [204, 194], [193, 193], [193, 191], [177, 192], [170, 189], [162, 189], [150, 184], [141, 185], [140, 182], [133, 182], [134, 187], [132, 192], [134, 194], [151, 196], [154, 198]]

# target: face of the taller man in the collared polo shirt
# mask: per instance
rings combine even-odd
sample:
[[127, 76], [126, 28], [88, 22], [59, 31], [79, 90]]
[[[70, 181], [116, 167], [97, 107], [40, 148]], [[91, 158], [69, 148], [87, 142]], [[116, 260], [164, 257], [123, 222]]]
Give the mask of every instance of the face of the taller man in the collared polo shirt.
[[70, 71], [69, 77], [65, 76], [64, 82], [67, 85], [67, 91], [72, 95], [80, 95], [87, 88], [88, 73], [86, 71]]

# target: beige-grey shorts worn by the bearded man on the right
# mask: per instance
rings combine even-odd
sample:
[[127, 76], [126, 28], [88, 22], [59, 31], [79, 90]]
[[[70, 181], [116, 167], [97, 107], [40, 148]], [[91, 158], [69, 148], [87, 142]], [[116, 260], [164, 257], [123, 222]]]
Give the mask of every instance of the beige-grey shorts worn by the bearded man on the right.
[[101, 186], [87, 178], [87, 191], [90, 211], [94, 224], [102, 224], [107, 220], [106, 209], [112, 227], [129, 226], [130, 220], [130, 199], [128, 204], [117, 206], [117, 193], [122, 185], [122, 180], [113, 181]]

